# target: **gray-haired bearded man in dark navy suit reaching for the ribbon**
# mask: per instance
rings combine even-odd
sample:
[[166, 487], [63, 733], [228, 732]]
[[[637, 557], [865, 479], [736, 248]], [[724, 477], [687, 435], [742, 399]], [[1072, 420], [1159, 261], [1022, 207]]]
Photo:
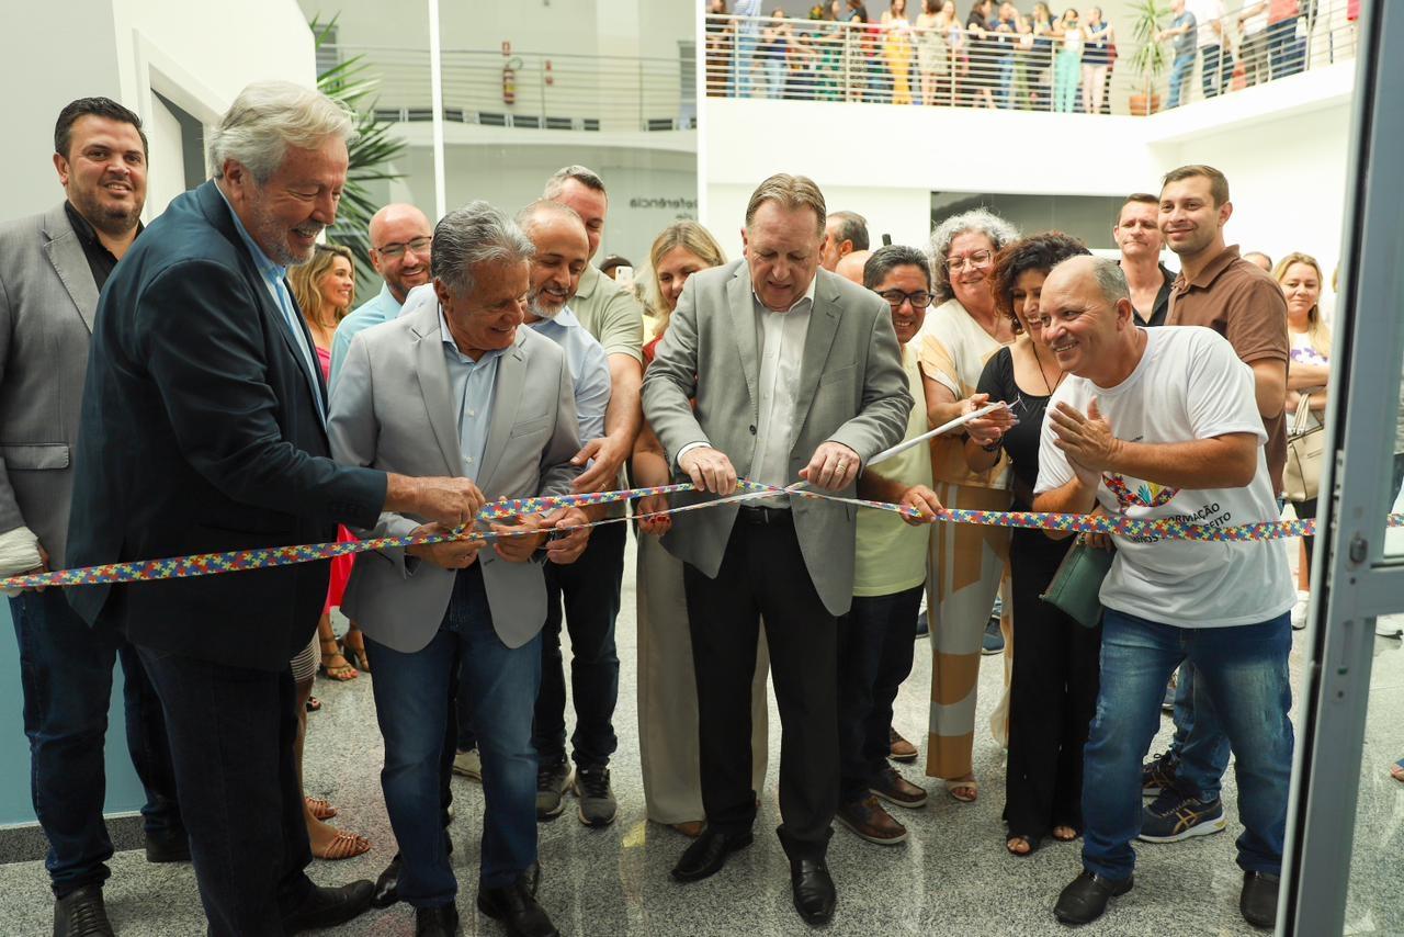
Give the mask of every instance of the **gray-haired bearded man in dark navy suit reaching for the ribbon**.
[[[215, 180], [176, 198], [98, 303], [74, 466], [70, 566], [336, 539], [382, 510], [459, 524], [482, 494], [329, 458], [326, 388], [284, 280], [336, 219], [352, 122], [282, 81], [244, 89], [209, 136]], [[166, 711], [211, 934], [361, 913], [317, 888], [293, 764], [288, 667], [330, 563], [73, 590], [136, 645]]]

